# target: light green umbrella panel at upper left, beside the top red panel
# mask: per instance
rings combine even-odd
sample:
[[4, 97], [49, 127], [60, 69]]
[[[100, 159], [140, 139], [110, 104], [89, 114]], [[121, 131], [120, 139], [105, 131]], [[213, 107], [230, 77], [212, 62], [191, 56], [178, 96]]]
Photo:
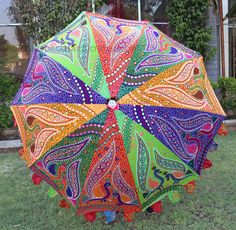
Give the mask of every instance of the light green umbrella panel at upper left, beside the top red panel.
[[105, 98], [110, 93], [86, 13], [38, 47]]

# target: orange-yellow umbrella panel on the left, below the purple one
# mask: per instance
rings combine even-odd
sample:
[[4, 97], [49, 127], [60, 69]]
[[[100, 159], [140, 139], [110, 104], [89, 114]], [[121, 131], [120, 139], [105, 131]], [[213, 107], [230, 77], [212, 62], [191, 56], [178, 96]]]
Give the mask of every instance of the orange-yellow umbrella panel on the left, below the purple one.
[[68, 134], [106, 109], [106, 105], [40, 104], [11, 107], [24, 147], [23, 158], [32, 165]]

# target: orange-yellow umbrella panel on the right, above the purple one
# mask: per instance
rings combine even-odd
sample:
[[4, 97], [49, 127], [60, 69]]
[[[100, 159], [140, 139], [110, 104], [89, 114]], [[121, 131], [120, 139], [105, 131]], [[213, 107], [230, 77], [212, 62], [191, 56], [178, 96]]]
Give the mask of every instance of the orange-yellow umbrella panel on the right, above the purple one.
[[225, 115], [202, 57], [177, 64], [119, 100], [120, 104], [186, 108]]

